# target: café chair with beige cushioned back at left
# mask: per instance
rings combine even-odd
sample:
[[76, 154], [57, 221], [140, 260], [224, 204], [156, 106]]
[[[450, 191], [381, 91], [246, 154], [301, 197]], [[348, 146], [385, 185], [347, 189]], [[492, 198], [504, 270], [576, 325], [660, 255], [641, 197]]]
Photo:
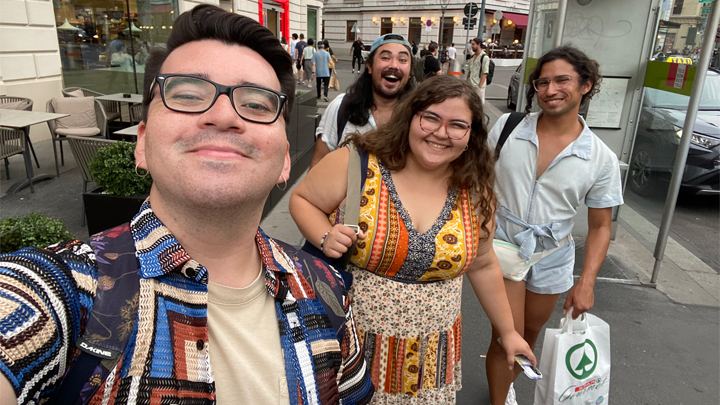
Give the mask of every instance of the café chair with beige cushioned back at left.
[[62, 142], [68, 136], [107, 138], [107, 117], [99, 101], [93, 97], [53, 98], [46, 104], [47, 112], [70, 114], [68, 117], [48, 121], [55, 155], [55, 170], [60, 176], [57, 145], [60, 144], [60, 161], [65, 165]]

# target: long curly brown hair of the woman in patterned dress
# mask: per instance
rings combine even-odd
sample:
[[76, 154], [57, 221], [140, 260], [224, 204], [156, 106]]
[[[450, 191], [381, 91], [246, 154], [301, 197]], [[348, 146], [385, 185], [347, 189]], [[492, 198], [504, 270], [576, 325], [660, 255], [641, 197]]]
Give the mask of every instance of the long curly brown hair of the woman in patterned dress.
[[424, 80], [393, 110], [392, 119], [385, 125], [365, 134], [349, 134], [345, 143], [353, 143], [364, 152], [377, 156], [390, 170], [400, 170], [407, 163], [410, 153], [410, 123], [420, 111], [447, 99], [461, 98], [472, 112], [472, 124], [468, 148], [457, 159], [450, 162], [453, 174], [448, 186], [458, 185], [475, 196], [475, 208], [482, 215], [481, 227], [490, 235], [488, 224], [495, 210], [495, 165], [487, 145], [487, 129], [483, 124], [485, 114], [482, 102], [475, 89], [465, 80], [440, 75]]

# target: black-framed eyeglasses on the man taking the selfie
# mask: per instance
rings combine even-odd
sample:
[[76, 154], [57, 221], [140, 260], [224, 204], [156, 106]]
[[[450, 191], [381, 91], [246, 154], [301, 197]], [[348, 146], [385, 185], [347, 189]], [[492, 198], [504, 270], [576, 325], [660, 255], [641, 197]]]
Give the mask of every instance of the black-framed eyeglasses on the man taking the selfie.
[[258, 124], [277, 121], [287, 101], [285, 94], [265, 87], [253, 84], [224, 86], [194, 75], [159, 74], [150, 86], [151, 92], [155, 83], [160, 86], [160, 96], [168, 110], [204, 113], [221, 94], [225, 94], [242, 119]]

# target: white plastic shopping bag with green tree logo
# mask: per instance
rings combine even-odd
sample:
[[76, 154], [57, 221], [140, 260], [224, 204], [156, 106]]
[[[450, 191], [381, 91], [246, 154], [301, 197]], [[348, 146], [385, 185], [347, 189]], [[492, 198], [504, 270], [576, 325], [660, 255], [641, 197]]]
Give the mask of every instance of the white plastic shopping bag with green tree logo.
[[610, 393], [610, 326], [585, 313], [545, 331], [535, 405], [607, 405]]

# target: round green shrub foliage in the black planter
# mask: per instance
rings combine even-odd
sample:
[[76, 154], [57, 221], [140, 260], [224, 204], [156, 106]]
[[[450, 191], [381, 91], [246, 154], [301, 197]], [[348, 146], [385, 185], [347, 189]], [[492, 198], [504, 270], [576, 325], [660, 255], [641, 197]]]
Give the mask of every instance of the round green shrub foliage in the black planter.
[[143, 195], [150, 192], [152, 179], [135, 174], [135, 144], [116, 142], [101, 148], [89, 164], [95, 183], [106, 193], [118, 196]]

